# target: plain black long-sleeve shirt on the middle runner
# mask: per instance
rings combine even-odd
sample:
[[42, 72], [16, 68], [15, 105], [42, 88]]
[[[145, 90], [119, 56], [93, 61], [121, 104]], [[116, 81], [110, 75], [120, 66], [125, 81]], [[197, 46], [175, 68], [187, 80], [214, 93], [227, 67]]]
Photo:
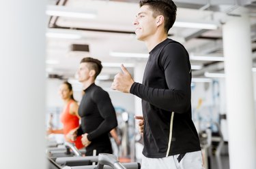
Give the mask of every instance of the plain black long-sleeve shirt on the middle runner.
[[117, 117], [109, 94], [95, 83], [85, 90], [79, 105], [81, 126], [78, 135], [88, 133], [91, 144], [87, 151], [96, 148], [111, 149], [109, 132], [117, 126]]

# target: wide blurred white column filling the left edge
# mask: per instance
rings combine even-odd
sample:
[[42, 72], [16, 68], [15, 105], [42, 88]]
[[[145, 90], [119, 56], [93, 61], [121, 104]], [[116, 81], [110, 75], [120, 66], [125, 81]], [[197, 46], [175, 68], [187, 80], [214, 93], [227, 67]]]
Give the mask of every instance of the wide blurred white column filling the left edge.
[[0, 5], [0, 168], [45, 169], [45, 1]]

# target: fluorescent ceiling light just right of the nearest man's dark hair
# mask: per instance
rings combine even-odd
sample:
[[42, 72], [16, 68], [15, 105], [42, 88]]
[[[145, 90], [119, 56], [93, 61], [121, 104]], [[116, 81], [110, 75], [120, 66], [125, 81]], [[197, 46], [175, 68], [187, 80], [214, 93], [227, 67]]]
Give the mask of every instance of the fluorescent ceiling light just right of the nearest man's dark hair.
[[177, 20], [174, 22], [173, 26], [193, 29], [218, 29], [218, 24], [216, 22], [193, 22]]

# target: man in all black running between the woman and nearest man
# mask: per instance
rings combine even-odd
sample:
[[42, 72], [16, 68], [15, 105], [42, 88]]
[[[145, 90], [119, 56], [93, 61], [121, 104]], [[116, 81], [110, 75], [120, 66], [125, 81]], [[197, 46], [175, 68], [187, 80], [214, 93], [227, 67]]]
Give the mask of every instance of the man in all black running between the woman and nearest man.
[[94, 83], [101, 69], [100, 60], [83, 58], [78, 71], [85, 94], [79, 105], [81, 126], [75, 135], [83, 134], [81, 140], [88, 156], [113, 153], [109, 132], [117, 126], [117, 117], [109, 94]]

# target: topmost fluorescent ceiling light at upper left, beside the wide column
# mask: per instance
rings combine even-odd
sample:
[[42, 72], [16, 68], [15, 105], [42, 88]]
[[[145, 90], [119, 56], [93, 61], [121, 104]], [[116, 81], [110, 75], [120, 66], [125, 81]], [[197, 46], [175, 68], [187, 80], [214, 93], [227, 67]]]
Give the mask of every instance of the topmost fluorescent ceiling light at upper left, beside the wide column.
[[79, 10], [71, 7], [60, 6], [60, 5], [48, 5], [46, 9], [48, 16], [63, 16], [70, 18], [96, 18], [95, 10]]

